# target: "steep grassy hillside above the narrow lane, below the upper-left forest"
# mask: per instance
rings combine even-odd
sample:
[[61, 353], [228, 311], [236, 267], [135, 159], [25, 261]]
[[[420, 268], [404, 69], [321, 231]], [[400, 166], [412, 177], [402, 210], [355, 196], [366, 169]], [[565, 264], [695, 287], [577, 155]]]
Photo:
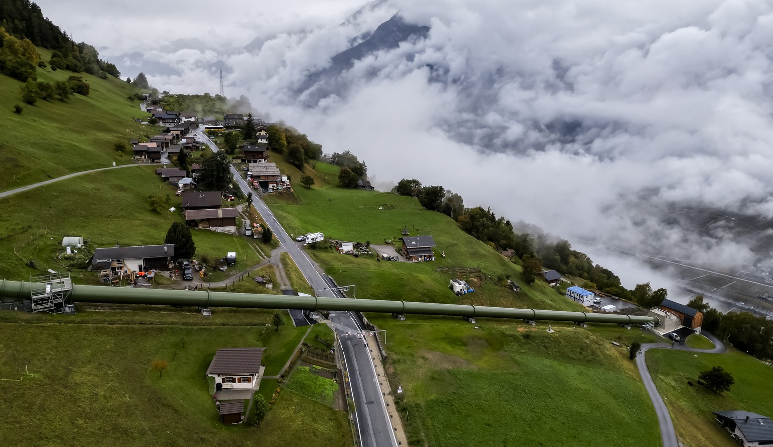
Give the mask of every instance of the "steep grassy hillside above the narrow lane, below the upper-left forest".
[[[44, 59], [49, 52], [39, 49]], [[144, 117], [138, 101], [126, 98], [138, 90], [112, 76], [102, 80], [87, 73], [38, 68], [38, 80], [66, 80], [76, 74], [91, 86], [88, 97], [73, 95], [69, 100], [38, 100], [22, 114], [13, 105], [23, 105], [22, 82], [0, 75], [0, 191], [49, 180], [77, 171], [131, 163], [131, 154], [120, 157], [113, 149], [116, 141], [155, 134], [153, 126], [138, 124]]]

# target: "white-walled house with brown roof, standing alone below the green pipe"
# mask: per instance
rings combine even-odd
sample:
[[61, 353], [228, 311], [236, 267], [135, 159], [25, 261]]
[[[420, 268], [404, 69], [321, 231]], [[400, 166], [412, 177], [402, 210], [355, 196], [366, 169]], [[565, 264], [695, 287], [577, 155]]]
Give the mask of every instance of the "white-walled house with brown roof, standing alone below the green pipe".
[[266, 367], [264, 347], [226, 347], [217, 350], [206, 375], [215, 379], [215, 391], [223, 389], [257, 390]]

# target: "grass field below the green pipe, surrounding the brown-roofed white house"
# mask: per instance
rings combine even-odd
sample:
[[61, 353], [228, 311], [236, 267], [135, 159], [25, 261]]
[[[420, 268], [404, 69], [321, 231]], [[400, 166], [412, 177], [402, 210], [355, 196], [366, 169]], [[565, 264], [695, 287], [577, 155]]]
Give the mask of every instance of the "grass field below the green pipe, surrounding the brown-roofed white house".
[[[109, 309], [0, 314], [0, 416], [13, 420], [0, 425], [5, 445], [351, 445], [343, 411], [297, 393], [284, 393], [258, 428], [220, 422], [204, 379], [215, 351], [267, 347], [267, 374], [276, 374], [307, 329], [289, 317], [274, 332], [264, 331], [271, 310], [205, 319], [165, 306]], [[161, 378], [154, 360], [169, 362]]]

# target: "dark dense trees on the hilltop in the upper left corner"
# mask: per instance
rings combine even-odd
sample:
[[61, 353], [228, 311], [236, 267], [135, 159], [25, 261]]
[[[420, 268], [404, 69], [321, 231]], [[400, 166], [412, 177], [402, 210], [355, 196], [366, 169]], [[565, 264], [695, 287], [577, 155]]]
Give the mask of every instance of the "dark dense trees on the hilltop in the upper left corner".
[[[48, 63], [36, 47], [52, 50]], [[18, 80], [37, 80], [36, 67], [66, 69], [102, 78], [121, 76], [116, 66], [99, 58], [87, 43], [73, 42], [58, 26], [43, 17], [29, 0], [0, 2], [0, 72]]]

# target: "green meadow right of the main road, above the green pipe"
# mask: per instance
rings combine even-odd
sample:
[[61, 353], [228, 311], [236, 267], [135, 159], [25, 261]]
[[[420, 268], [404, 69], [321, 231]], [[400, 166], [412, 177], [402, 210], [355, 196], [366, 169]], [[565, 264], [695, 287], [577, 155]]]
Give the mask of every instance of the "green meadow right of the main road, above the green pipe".
[[[581, 310], [542, 282], [526, 286], [520, 267], [491, 247], [462, 231], [439, 212], [429, 212], [415, 198], [378, 191], [360, 191], [335, 185], [338, 168], [317, 163], [306, 168], [316, 184], [298, 185], [301, 172], [271, 154], [283, 173], [295, 180], [295, 195], [268, 195], [265, 200], [284, 228], [295, 235], [323, 232], [326, 238], [392, 246], [400, 249], [401, 231], [432, 235], [438, 247], [434, 262], [376, 262], [376, 256], [343, 256], [330, 249], [309, 252], [339, 284], [357, 285], [357, 297], [415, 300], [433, 303], [473, 303], [486, 306]], [[441, 252], [445, 252], [442, 258]], [[461, 268], [472, 269], [465, 272]], [[468, 281], [475, 293], [455, 296], [448, 289], [452, 277]], [[520, 293], [504, 287], [507, 278], [523, 286]]]

